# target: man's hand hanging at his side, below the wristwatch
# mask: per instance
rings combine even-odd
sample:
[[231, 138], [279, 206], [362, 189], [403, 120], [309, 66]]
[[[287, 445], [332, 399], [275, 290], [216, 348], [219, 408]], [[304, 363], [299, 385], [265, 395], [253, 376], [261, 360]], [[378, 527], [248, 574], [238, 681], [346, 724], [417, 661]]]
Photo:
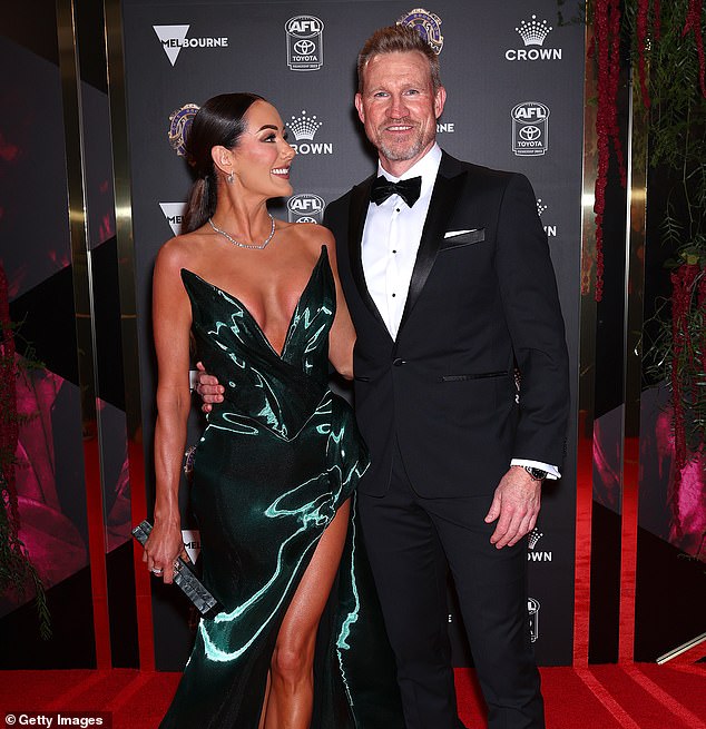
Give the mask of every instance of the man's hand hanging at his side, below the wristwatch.
[[496, 521], [490, 542], [498, 549], [517, 544], [535, 529], [541, 502], [541, 481], [535, 481], [522, 467], [512, 466], [496, 489], [486, 522]]

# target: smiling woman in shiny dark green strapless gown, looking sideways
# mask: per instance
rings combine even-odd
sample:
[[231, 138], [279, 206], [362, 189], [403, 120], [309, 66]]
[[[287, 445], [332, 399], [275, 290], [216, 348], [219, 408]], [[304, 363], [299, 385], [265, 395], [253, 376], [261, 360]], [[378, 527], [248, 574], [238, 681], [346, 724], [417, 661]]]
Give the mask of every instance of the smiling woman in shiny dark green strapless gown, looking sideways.
[[159, 250], [156, 503], [147, 568], [182, 553], [178, 484], [192, 407], [189, 338], [224, 384], [198, 443], [192, 505], [204, 582], [223, 605], [202, 620], [161, 727], [402, 727], [391, 654], [357, 539], [354, 489], [367, 453], [329, 363], [352, 376], [355, 333], [332, 235], [275, 220], [294, 150], [277, 110], [228, 93], [194, 118], [196, 181], [184, 233]]

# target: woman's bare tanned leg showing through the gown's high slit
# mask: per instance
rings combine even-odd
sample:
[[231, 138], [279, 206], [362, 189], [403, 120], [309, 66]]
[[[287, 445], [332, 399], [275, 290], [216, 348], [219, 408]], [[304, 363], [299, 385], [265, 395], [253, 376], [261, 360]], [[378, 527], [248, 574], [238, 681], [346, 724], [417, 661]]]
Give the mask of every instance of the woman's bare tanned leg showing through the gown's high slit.
[[264, 729], [308, 729], [316, 631], [343, 553], [350, 508], [346, 501], [322, 534], [280, 628], [272, 654]]

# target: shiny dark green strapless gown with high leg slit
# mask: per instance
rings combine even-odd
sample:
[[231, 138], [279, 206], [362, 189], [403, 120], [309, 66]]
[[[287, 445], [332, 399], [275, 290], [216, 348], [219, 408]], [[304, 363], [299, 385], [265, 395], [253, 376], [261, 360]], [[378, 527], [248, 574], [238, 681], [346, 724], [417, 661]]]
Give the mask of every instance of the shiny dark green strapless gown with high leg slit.
[[[257, 729], [287, 605], [367, 452], [351, 407], [327, 386], [335, 287], [325, 247], [281, 354], [235, 296], [186, 269], [182, 279], [197, 356], [225, 387], [192, 485], [203, 580], [224, 612], [200, 621], [160, 727]], [[379, 610], [353, 516], [317, 636], [312, 729], [404, 726]]]

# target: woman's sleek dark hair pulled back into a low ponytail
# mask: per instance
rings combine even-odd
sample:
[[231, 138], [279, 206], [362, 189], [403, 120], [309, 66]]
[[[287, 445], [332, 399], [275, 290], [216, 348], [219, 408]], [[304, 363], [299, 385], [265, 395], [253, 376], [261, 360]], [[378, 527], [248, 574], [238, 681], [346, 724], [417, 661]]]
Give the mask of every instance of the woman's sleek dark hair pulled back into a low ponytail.
[[257, 101], [257, 93], [220, 93], [200, 107], [186, 137], [186, 158], [196, 180], [189, 190], [182, 230], [200, 228], [216, 211], [218, 179], [210, 150], [220, 145], [226, 149], [237, 146], [246, 122], [245, 112]]

